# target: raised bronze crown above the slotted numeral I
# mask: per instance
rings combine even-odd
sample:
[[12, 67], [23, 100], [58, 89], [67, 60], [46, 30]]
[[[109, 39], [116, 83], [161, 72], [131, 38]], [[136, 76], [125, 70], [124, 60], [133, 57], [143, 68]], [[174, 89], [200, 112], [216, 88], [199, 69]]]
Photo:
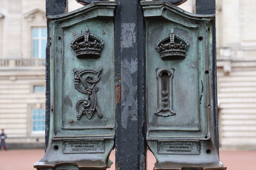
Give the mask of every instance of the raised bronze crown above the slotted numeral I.
[[161, 54], [162, 60], [183, 60], [189, 43], [171, 29], [169, 35], [163, 37], [156, 44], [156, 50]]

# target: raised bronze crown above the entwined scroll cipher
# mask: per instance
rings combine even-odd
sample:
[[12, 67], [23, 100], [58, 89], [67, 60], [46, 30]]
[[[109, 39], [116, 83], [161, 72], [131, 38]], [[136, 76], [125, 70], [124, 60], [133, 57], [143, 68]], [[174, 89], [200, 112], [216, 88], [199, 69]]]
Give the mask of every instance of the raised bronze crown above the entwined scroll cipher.
[[88, 26], [84, 33], [71, 43], [71, 48], [76, 51], [79, 59], [100, 58], [103, 46], [104, 42], [98, 36], [91, 34]]

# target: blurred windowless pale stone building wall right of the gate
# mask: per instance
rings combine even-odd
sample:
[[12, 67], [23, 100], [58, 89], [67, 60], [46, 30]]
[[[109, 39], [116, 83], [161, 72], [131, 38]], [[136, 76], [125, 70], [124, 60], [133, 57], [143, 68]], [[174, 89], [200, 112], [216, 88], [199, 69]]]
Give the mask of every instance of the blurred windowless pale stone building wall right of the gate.
[[219, 142], [256, 148], [256, 1], [216, 0]]

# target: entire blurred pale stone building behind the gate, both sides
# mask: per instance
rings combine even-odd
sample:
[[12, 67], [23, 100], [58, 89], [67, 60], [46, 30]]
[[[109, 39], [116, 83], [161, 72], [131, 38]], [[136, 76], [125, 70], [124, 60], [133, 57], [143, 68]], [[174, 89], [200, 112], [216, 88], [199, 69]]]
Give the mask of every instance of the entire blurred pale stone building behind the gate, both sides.
[[[69, 11], [82, 7], [69, 0]], [[219, 142], [256, 148], [254, 0], [216, 0]], [[181, 8], [195, 12], [195, 0]], [[0, 128], [12, 147], [44, 147], [45, 0], [0, 0]]]

